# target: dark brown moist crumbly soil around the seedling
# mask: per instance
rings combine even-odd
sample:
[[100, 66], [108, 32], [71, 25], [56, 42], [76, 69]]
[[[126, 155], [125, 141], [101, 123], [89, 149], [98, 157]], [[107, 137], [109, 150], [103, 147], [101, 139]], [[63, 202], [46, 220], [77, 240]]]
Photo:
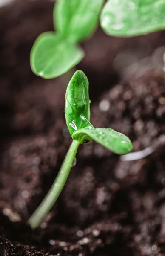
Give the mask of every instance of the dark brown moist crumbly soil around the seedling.
[[125, 39], [99, 28], [77, 66], [90, 81], [91, 123], [126, 134], [138, 156], [152, 153], [125, 161], [95, 142], [80, 145], [51, 212], [36, 230], [26, 224], [71, 143], [64, 99], [72, 71], [44, 80], [29, 66], [35, 38], [53, 29], [52, 9], [26, 0], [0, 9], [0, 256], [164, 256], [164, 73], [122, 81], [113, 68], [122, 49], [150, 55], [163, 32]]

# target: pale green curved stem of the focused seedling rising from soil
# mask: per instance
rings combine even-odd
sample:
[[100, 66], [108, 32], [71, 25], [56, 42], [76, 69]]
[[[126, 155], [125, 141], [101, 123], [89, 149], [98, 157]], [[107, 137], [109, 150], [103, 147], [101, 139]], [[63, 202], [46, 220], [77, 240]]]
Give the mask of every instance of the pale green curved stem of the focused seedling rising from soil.
[[36, 228], [40, 225], [40, 222], [43, 220], [45, 215], [49, 212], [49, 210], [59, 197], [68, 178], [79, 144], [80, 143], [76, 140], [72, 141], [68, 153], [66, 154], [63, 164], [60, 168], [60, 171], [56, 179], [54, 180], [53, 185], [51, 186], [51, 189], [48, 191], [46, 197], [43, 199], [39, 207], [35, 210], [35, 212], [28, 220], [31, 228]]

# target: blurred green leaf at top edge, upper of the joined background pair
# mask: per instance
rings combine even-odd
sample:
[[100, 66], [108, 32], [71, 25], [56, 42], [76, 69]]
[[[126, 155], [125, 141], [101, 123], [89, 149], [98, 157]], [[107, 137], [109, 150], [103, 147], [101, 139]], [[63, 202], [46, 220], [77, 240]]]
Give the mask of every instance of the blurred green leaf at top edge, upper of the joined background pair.
[[57, 0], [54, 28], [71, 41], [82, 41], [96, 29], [104, 0]]

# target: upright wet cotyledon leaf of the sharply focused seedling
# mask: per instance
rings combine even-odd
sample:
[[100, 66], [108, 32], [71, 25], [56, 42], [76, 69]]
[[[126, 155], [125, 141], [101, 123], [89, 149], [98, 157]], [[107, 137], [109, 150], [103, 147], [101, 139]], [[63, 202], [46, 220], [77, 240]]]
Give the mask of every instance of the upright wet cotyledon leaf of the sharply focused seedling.
[[65, 119], [71, 136], [75, 130], [91, 125], [88, 87], [87, 77], [83, 71], [77, 70], [65, 95]]

